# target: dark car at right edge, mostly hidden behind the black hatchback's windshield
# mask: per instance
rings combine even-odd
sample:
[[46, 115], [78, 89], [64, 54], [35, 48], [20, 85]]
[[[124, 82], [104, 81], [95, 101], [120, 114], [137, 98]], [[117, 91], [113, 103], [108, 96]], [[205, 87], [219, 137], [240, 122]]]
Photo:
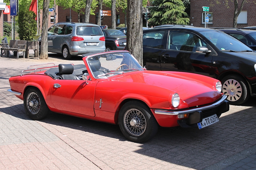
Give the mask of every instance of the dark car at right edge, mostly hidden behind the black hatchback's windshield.
[[215, 28], [232, 35], [252, 49], [256, 50], [256, 30], [237, 28]]

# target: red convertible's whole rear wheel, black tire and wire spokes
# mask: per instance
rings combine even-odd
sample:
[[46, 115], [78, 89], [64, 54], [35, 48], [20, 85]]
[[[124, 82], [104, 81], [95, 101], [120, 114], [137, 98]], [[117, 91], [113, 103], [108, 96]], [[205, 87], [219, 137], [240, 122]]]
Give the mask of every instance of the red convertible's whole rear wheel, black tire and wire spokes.
[[50, 111], [42, 93], [35, 87], [26, 90], [23, 103], [26, 114], [33, 120], [44, 119]]

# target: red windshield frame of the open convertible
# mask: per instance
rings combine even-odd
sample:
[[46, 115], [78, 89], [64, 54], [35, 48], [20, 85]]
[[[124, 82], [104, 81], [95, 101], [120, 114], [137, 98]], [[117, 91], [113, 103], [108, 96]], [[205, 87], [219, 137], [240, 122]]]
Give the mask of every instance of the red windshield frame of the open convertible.
[[[95, 77], [92, 70], [91, 70], [91, 67], [89, 66], [89, 63], [88, 63], [88, 59], [89, 58], [92, 58], [92, 57], [96, 57], [96, 56], [101, 56], [101, 55], [106, 55], [106, 54], [115, 54], [115, 53], [129, 53], [131, 55], [131, 57], [140, 65], [140, 63], [138, 62], [138, 60], [129, 52], [129, 51], [125, 51], [125, 50], [116, 50], [116, 51], [108, 51], [108, 52], [103, 52], [103, 53], [98, 53], [98, 54], [93, 54], [93, 55], [90, 55], [88, 57], [86, 57], [86, 64], [88, 66], [87, 70], [90, 70], [90, 73], [91, 75], [93, 76], [94, 79], [106, 79], [106, 78], [109, 78], [109, 77], [112, 77], [112, 76], [115, 76], [115, 75], [120, 75], [120, 74], [113, 74], [113, 75], [108, 75], [108, 76], [103, 76], [103, 77]], [[85, 58], [85, 57], [84, 57]], [[140, 65], [141, 66], [141, 65]], [[138, 69], [141, 69], [141, 70], [146, 70], [144, 69], [142, 66], [141, 68], [138, 68]], [[123, 74], [125, 73], [129, 73], [129, 72], [133, 72], [133, 71], [141, 71], [141, 70], [126, 70]], [[117, 71], [117, 72], [120, 72], [120, 71]], [[114, 72], [113, 72], [114, 73]]]

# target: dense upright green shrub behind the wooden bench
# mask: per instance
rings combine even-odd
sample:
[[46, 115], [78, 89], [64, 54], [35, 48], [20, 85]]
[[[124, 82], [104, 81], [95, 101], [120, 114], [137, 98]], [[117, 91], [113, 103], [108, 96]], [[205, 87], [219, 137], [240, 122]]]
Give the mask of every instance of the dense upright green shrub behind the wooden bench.
[[33, 11], [19, 11], [18, 25], [20, 40], [32, 41], [37, 34], [36, 14]]

